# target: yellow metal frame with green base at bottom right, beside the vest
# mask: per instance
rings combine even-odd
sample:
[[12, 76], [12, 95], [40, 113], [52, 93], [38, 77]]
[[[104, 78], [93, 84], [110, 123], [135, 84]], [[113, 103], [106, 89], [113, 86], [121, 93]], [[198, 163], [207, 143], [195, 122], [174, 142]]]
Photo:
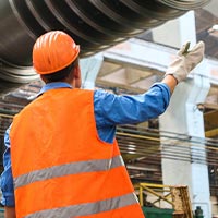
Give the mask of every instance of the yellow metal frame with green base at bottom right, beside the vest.
[[134, 187], [146, 218], [203, 218], [201, 207], [192, 210], [187, 186], [138, 183]]

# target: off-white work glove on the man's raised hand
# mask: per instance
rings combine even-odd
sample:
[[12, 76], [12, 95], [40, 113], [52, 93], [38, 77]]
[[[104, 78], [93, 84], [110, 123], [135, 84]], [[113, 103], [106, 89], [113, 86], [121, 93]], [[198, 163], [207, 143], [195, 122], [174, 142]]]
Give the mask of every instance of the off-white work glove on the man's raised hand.
[[173, 75], [178, 83], [184, 81], [189, 73], [203, 60], [205, 44], [197, 43], [189, 51], [190, 43], [186, 43], [178, 51], [175, 60], [168, 66], [165, 75]]

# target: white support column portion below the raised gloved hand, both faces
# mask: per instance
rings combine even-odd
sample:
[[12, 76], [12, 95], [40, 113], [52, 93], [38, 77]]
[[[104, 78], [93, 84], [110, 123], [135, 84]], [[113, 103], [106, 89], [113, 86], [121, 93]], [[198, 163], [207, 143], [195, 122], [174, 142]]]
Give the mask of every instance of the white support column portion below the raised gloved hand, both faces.
[[[170, 106], [165, 114], [160, 116], [160, 131], [186, 134], [192, 137], [204, 137], [203, 112], [198, 105], [204, 102], [209, 92], [210, 83], [202, 75], [201, 71], [207, 71], [206, 63], [202, 63], [193, 73], [195, 75], [185, 83], [181, 83], [172, 95]], [[161, 140], [162, 149], [166, 144], [173, 141]], [[184, 145], [185, 146], [185, 145]], [[177, 154], [177, 142], [171, 146], [171, 153]], [[184, 152], [184, 150], [183, 150]], [[187, 185], [193, 210], [201, 206], [205, 218], [211, 218], [208, 168], [206, 165], [206, 152], [204, 145], [190, 144], [186, 146], [191, 161], [172, 160], [162, 158], [162, 180], [165, 184]], [[197, 161], [201, 157], [201, 161]]]

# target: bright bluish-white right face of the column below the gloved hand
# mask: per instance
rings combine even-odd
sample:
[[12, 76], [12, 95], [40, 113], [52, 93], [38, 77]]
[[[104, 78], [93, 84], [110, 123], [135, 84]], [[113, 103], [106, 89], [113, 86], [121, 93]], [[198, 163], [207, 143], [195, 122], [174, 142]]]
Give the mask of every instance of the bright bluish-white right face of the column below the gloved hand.
[[[194, 75], [194, 78], [190, 82], [191, 92], [186, 100], [186, 123], [187, 123], [187, 133], [190, 136], [205, 137], [204, 131], [204, 117], [201, 108], [198, 106], [205, 101], [205, 98], [209, 92], [210, 83], [207, 74], [207, 63], [199, 65], [196, 69], [197, 75]], [[192, 146], [192, 156], [201, 157], [201, 161], [205, 164], [197, 164], [197, 159], [193, 158], [191, 165], [192, 170], [192, 203], [193, 208], [201, 206], [204, 210], [205, 218], [211, 217], [211, 205], [210, 205], [210, 192], [209, 192], [209, 178], [208, 178], [208, 167], [206, 165], [206, 150], [205, 146]], [[198, 154], [201, 153], [201, 154]], [[204, 161], [205, 160], [205, 161]]]

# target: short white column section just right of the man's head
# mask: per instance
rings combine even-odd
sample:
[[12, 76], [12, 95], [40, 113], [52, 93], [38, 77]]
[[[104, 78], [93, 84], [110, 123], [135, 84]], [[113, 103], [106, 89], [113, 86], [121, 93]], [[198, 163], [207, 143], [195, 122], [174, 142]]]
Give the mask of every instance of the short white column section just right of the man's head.
[[82, 88], [94, 89], [95, 81], [102, 64], [102, 53], [98, 53], [80, 60], [82, 73]]

